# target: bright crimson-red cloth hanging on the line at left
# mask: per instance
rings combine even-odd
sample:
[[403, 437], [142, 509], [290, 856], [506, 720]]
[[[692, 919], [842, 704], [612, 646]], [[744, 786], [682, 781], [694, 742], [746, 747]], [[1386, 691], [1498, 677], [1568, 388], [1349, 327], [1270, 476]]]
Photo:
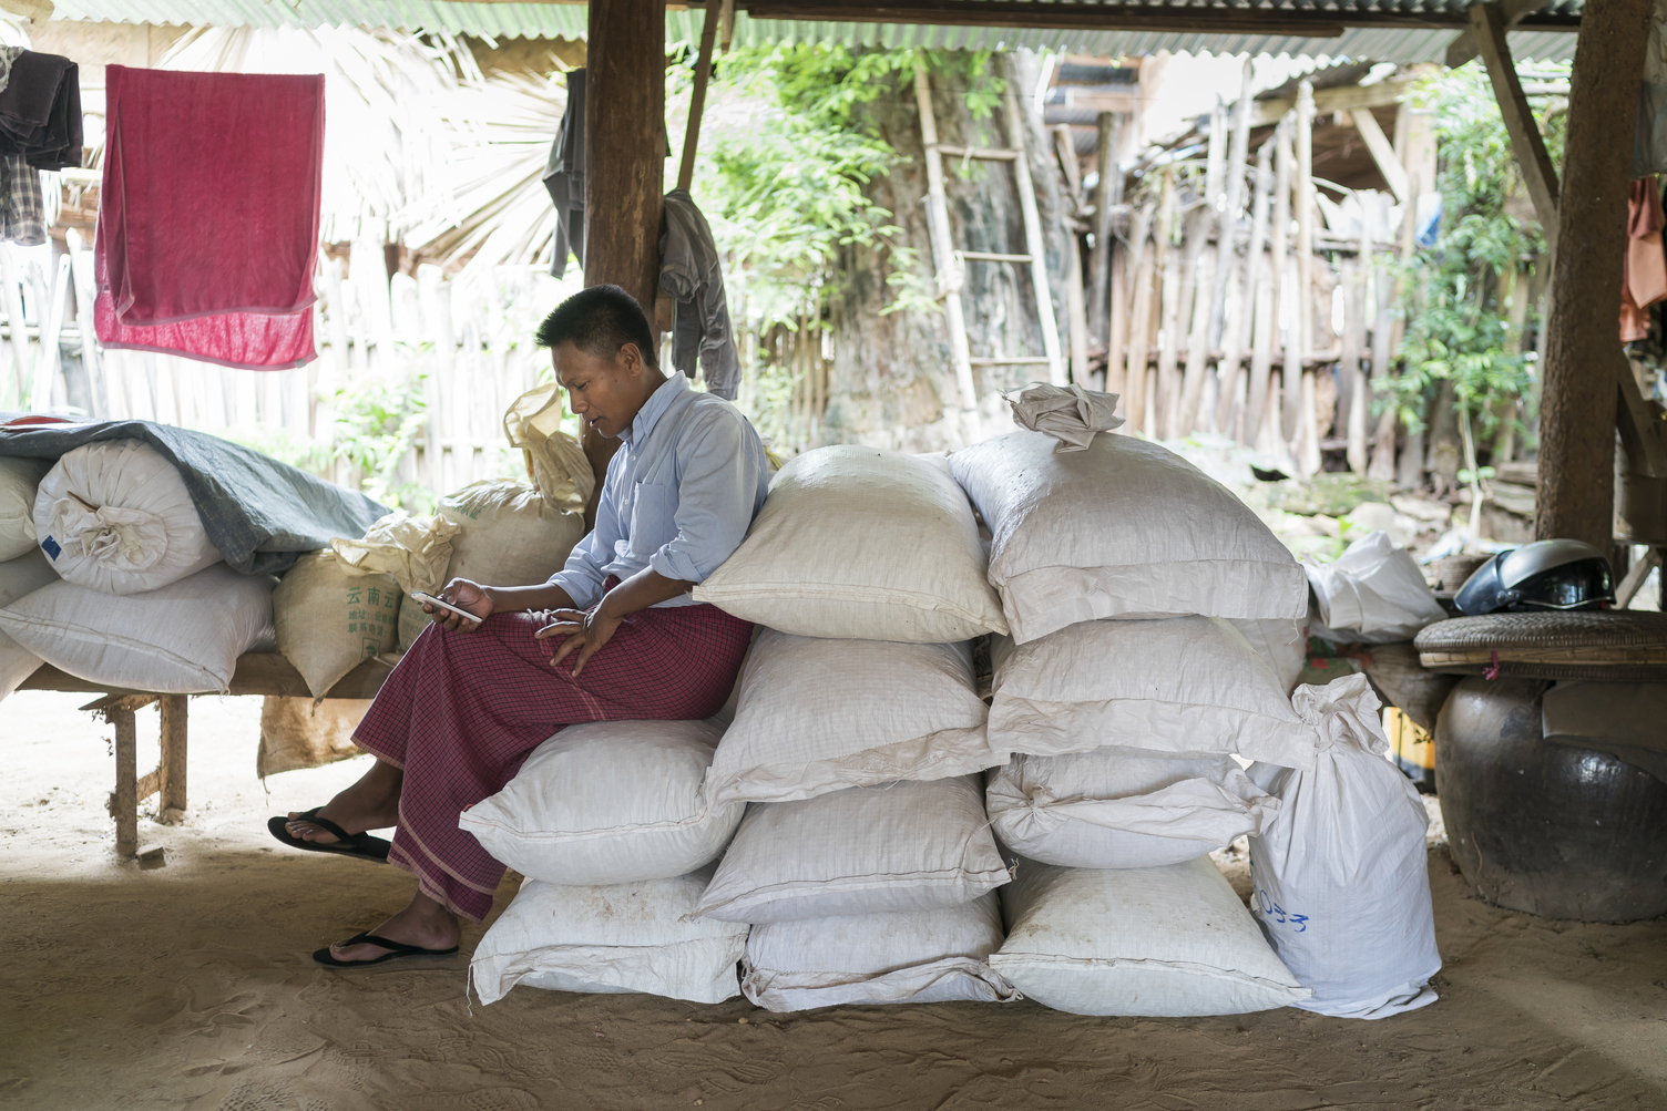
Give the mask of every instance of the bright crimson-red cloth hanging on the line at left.
[[323, 75], [105, 70], [105, 346], [282, 370], [313, 353]]

